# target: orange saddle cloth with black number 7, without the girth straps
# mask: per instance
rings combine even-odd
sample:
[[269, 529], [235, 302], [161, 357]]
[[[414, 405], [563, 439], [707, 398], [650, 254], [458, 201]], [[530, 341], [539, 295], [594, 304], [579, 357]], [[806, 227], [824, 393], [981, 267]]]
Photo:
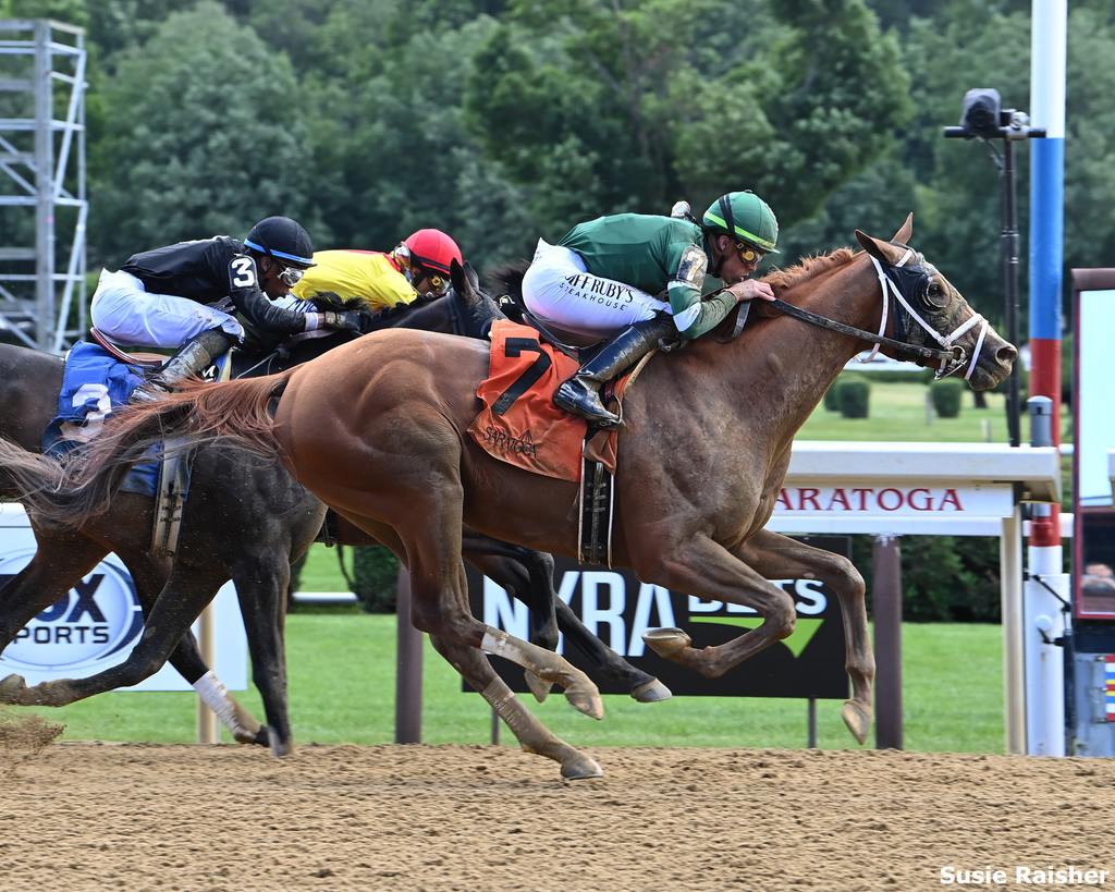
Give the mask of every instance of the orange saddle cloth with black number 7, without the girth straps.
[[[468, 433], [493, 458], [546, 477], [580, 481], [589, 423], [553, 403], [558, 387], [578, 368], [575, 359], [543, 343], [533, 328], [497, 321], [488, 377], [476, 388], [484, 408]], [[591, 446], [593, 457], [614, 472], [615, 432], [599, 432]]]

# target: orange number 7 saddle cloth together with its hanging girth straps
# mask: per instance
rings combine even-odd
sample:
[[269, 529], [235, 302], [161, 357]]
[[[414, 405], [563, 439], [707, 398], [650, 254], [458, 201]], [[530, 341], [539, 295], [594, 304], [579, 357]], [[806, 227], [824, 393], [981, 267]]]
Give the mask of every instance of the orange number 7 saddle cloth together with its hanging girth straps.
[[[541, 342], [529, 326], [500, 320], [491, 337], [488, 377], [476, 389], [484, 408], [468, 433], [493, 458], [580, 483], [579, 555], [610, 565], [617, 430], [593, 428], [589, 435], [584, 418], [554, 405], [554, 392], [580, 368], [578, 360]], [[640, 368], [605, 389], [603, 398], [620, 401]]]

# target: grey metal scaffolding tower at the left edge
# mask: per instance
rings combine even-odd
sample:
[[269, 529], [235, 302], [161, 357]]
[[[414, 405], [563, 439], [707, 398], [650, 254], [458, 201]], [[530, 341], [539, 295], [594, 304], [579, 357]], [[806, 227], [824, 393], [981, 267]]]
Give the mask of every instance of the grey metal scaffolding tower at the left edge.
[[0, 20], [0, 333], [55, 352], [86, 327], [85, 66], [84, 29]]

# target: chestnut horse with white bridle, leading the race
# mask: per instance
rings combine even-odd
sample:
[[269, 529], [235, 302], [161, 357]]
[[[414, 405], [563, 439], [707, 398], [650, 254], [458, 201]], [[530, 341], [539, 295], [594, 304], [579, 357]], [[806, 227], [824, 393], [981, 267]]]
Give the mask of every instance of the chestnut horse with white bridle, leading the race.
[[[760, 309], [735, 340], [718, 331], [658, 358], [628, 394], [619, 437], [614, 563], [673, 591], [750, 607], [763, 619], [717, 647], [697, 650], [680, 629], [649, 632], [650, 647], [718, 676], [793, 631], [793, 600], [768, 578], [821, 579], [841, 603], [852, 681], [842, 716], [860, 743], [870, 729], [874, 678], [863, 579], [845, 559], [764, 529], [793, 436], [862, 349], [865, 331], [891, 336], [896, 340], [886, 341], [884, 352], [917, 356], [922, 365], [930, 363], [928, 346], [941, 371], [967, 371], [979, 390], [1006, 377], [1017, 356], [908, 246], [911, 235], [912, 215], [890, 242], [857, 231], [863, 252], [843, 249], [769, 277], [789, 307], [785, 312], [811, 312], [843, 328]], [[462, 287], [459, 271], [454, 281]], [[568, 555], [578, 537], [575, 484], [500, 464], [466, 436], [487, 368], [483, 343], [395, 331], [289, 372], [129, 409], [84, 465], [65, 473], [2, 444], [0, 456], [14, 463], [36, 508], [66, 524], [101, 510], [123, 463], [142, 455], [163, 425], [281, 455], [303, 485], [406, 561], [414, 623], [512, 727], [522, 707], [482, 650], [564, 686], [576, 708], [599, 714], [599, 698], [562, 658], [485, 626], [468, 610], [463, 524]], [[94, 677], [28, 689], [9, 678], [0, 682], [0, 699], [68, 702], [97, 683]]]

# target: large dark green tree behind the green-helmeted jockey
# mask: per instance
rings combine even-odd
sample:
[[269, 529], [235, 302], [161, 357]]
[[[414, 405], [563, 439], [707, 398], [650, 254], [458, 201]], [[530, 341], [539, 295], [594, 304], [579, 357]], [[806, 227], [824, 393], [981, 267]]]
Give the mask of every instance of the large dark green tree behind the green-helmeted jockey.
[[739, 185], [784, 224], [805, 219], [885, 148], [906, 79], [861, 0], [770, 9], [741, 21], [727, 0], [521, 4], [474, 59], [469, 125], [545, 201], [532, 210], [551, 235], [586, 207], [661, 212]]

